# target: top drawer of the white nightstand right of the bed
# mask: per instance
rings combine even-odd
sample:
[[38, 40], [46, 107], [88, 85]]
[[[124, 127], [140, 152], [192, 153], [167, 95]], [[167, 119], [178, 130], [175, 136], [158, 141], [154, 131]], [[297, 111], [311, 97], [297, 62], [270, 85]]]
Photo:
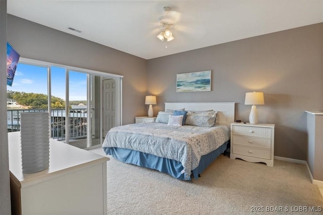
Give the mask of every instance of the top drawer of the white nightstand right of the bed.
[[233, 126], [233, 135], [257, 136], [263, 138], [272, 137], [271, 128], [252, 127], [252, 126]]

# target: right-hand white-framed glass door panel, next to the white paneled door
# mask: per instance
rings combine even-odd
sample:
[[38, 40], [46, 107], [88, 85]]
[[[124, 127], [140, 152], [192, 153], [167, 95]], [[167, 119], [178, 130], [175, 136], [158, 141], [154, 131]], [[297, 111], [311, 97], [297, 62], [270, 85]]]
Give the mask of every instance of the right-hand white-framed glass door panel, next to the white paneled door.
[[67, 70], [67, 111], [70, 145], [84, 149], [99, 145], [100, 77]]

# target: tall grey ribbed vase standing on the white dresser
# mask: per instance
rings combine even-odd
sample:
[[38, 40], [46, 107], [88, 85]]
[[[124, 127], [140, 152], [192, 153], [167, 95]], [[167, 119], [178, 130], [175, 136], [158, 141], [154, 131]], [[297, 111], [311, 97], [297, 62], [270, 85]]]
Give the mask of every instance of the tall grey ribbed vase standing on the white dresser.
[[22, 172], [34, 173], [49, 167], [49, 115], [21, 113]]

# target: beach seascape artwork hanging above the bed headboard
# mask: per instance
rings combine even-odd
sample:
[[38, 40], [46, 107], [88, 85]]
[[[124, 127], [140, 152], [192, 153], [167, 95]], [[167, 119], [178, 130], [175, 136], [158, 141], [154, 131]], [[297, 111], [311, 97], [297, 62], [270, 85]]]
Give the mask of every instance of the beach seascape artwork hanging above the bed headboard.
[[211, 91], [211, 70], [176, 75], [176, 92]]

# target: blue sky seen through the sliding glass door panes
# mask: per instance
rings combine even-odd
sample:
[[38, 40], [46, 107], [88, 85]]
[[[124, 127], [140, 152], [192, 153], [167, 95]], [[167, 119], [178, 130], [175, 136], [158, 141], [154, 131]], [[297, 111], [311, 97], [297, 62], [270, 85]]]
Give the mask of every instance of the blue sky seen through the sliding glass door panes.
[[[51, 66], [51, 95], [65, 100], [65, 68]], [[70, 101], [86, 100], [86, 74], [70, 71]], [[7, 90], [47, 95], [47, 68], [18, 63], [12, 87]]]

